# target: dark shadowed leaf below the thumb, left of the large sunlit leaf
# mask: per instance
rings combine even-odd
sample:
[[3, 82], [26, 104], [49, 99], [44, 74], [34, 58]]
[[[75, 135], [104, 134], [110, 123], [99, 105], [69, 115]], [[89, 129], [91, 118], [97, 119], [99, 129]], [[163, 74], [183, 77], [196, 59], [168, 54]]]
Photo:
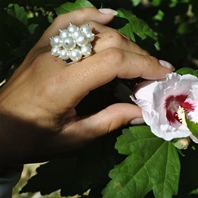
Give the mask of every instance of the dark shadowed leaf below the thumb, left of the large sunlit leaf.
[[37, 174], [28, 180], [21, 192], [38, 192], [50, 194], [57, 189], [61, 196], [83, 194], [88, 189], [94, 193], [101, 190], [109, 181], [108, 172], [115, 164], [123, 160], [114, 148], [120, 131], [114, 131], [78, 151], [71, 158], [52, 160], [41, 165]]

